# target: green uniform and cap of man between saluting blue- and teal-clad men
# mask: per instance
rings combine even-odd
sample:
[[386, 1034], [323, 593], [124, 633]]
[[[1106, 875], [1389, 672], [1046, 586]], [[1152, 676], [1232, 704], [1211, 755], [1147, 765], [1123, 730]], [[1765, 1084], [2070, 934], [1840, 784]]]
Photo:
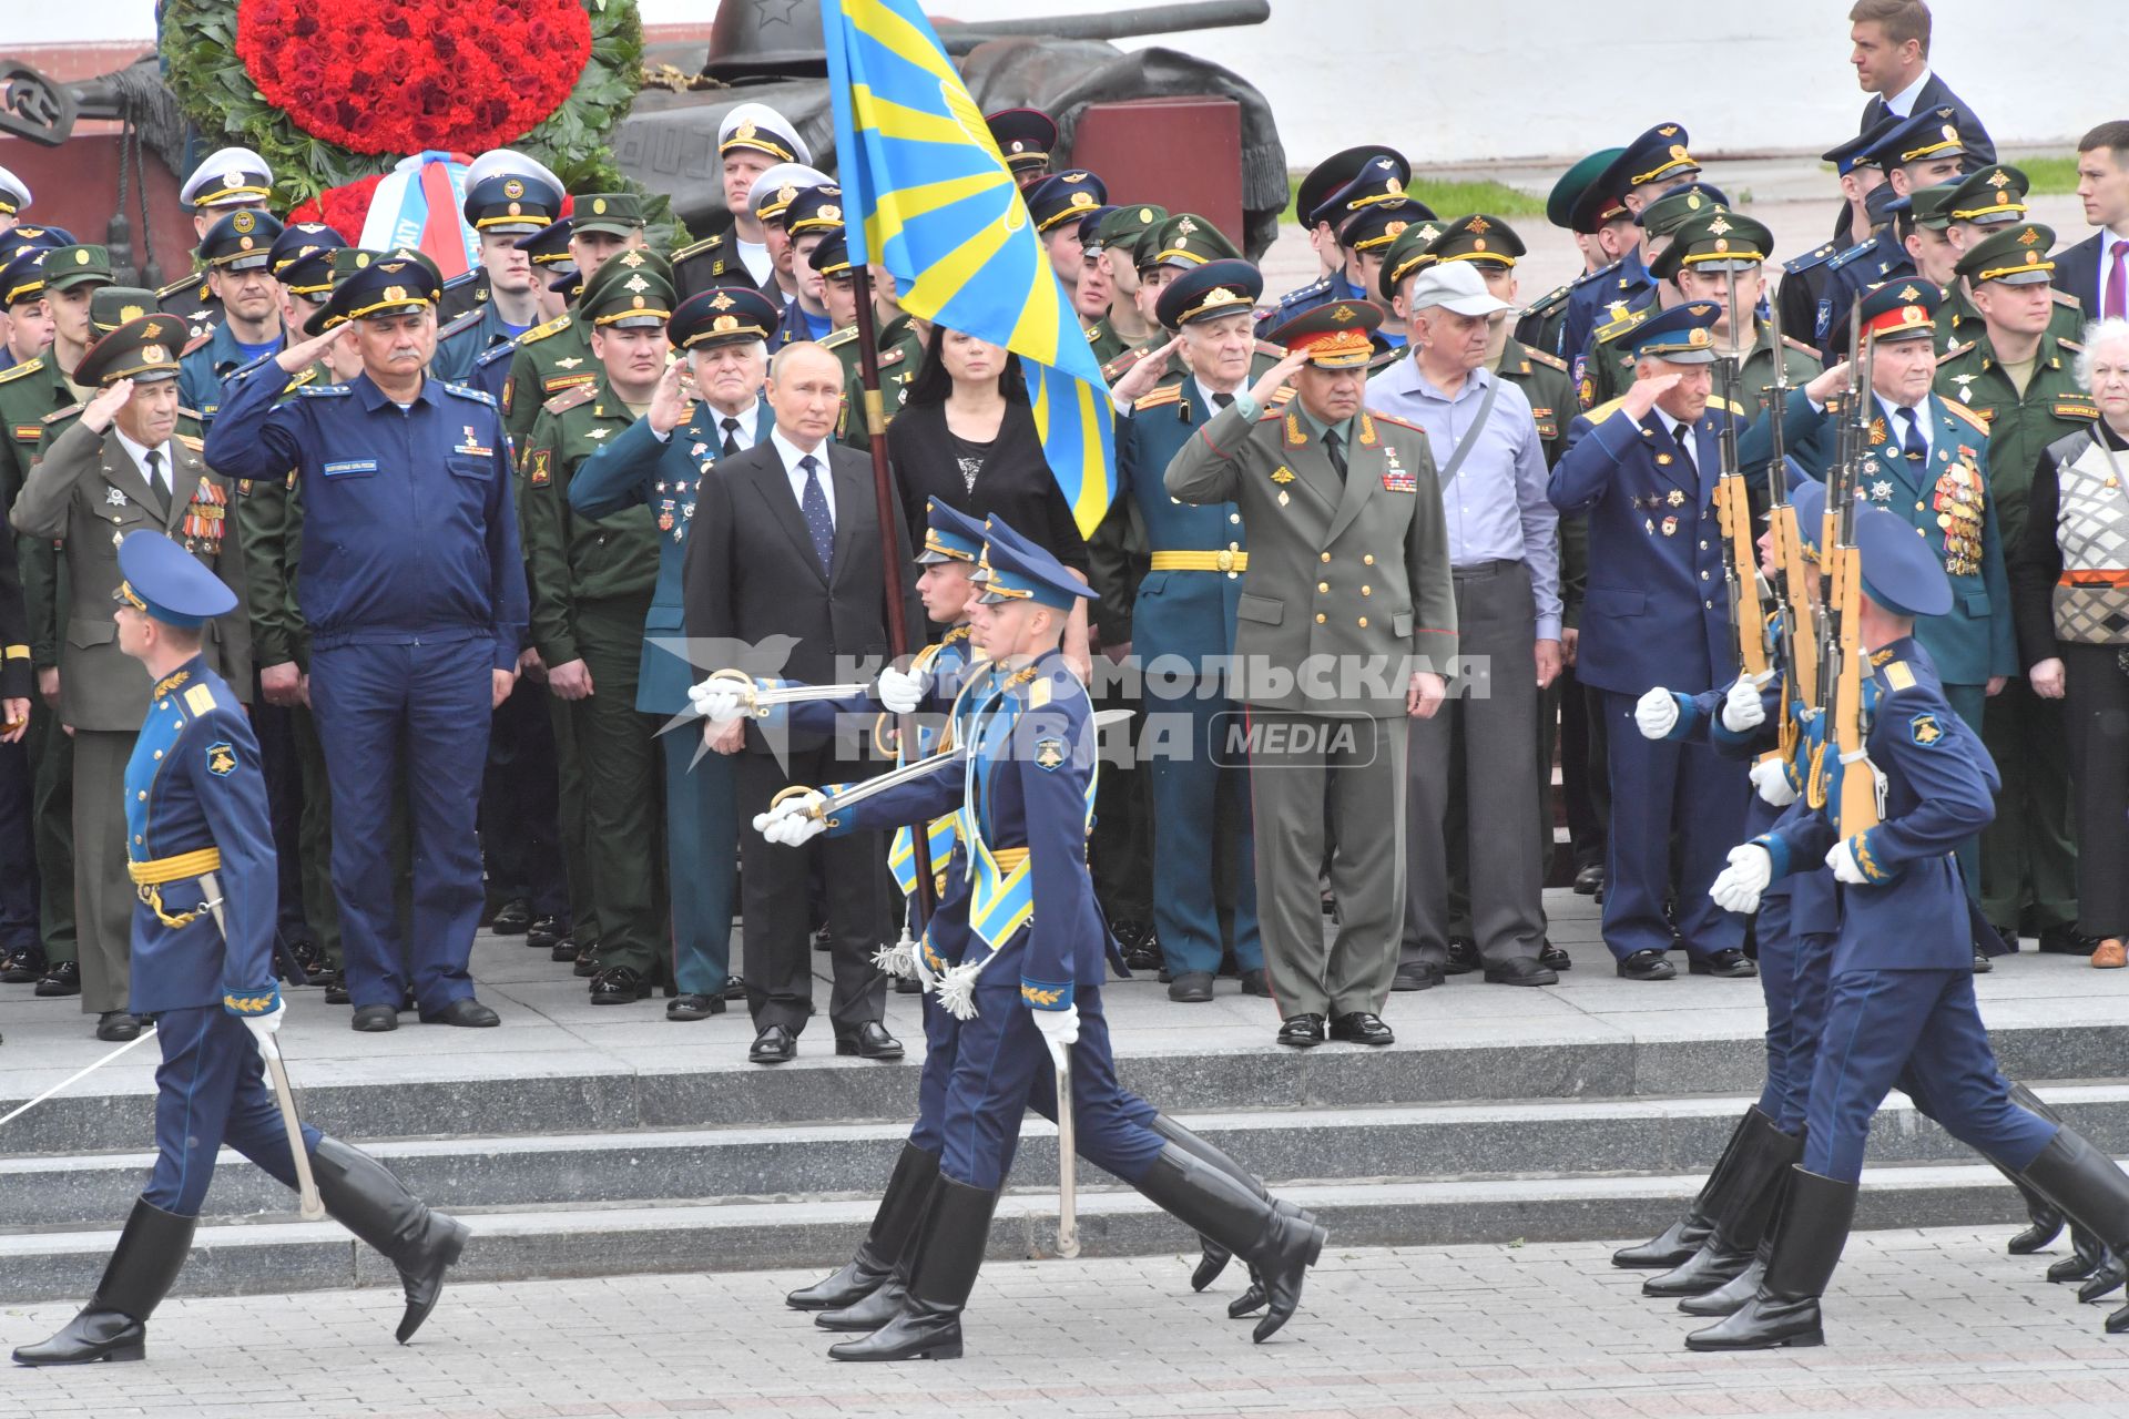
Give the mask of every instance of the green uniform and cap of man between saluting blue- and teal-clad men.
[[[585, 325], [673, 313], [671, 268], [624, 251], [585, 287]], [[517, 530], [532, 591], [530, 645], [549, 674], [581, 660], [592, 696], [554, 700], [556, 736], [571, 734], [583, 777], [590, 898], [598, 915], [594, 1002], [649, 994], [671, 962], [666, 934], [658, 723], [637, 711], [643, 623], [658, 583], [660, 532], [649, 504], [581, 517], [568, 506], [577, 466], [637, 421], [598, 372], [547, 400], [519, 455]]]

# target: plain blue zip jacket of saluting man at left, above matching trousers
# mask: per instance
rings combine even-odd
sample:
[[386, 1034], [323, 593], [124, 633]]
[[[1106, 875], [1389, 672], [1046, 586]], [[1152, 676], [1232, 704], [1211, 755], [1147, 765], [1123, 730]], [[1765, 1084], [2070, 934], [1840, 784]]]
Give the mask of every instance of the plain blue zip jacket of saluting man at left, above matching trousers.
[[238, 479], [296, 468], [311, 645], [485, 638], [494, 668], [515, 668], [526, 577], [494, 400], [428, 379], [402, 411], [358, 374], [277, 404], [290, 379], [273, 360], [236, 374], [207, 462]]

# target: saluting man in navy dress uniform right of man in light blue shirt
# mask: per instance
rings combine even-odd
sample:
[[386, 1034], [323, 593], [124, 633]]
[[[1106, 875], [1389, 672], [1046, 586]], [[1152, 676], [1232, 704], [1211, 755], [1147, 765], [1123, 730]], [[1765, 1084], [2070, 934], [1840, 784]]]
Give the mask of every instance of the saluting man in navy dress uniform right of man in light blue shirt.
[[1746, 777], [1699, 745], [1633, 734], [1633, 704], [1667, 685], [1699, 694], [1737, 655], [1722, 591], [1714, 489], [1720, 430], [1735, 415], [1710, 396], [1714, 302], [1641, 321], [1635, 372], [1618, 400], [1580, 415], [1552, 470], [1552, 504], [1588, 513], [1588, 591], [1575, 674], [1603, 694], [1612, 777], [1603, 940], [1629, 981], [1669, 981], [1678, 936], [1693, 974], [1750, 976], [1744, 925], [1707, 902], [1707, 883], [1737, 840]]

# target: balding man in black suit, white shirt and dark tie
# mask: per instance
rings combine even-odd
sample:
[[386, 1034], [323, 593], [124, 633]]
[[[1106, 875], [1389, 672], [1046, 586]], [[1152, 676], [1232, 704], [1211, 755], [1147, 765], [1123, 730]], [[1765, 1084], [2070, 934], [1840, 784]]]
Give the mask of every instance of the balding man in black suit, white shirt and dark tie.
[[[871, 679], [888, 653], [879, 502], [867, 460], [830, 443], [843, 400], [841, 362], [811, 340], [777, 351], [769, 364], [775, 430], [745, 453], [717, 462], [703, 479], [681, 570], [688, 636], [707, 664], [745, 662], [749, 674], [811, 685]], [[898, 504], [896, 504], [898, 506]], [[909, 534], [890, 519], [892, 551], [909, 560]], [[905, 591], [907, 625], [922, 625]], [[722, 645], [720, 645], [722, 642]], [[786, 651], [788, 647], [788, 651]], [[794, 783], [858, 779], [858, 751], [839, 740], [760, 725], [705, 725], [717, 753], [739, 753], [739, 811], [760, 813]], [[873, 949], [888, 921], [886, 853], [877, 834], [824, 840], [835, 1049], [867, 1059], [901, 1057], [901, 1042], [879, 1023], [886, 981]], [[760, 1032], [747, 1055], [783, 1064], [813, 1013], [807, 951], [807, 853], [786, 853], [756, 836], [741, 840], [747, 1011]]]

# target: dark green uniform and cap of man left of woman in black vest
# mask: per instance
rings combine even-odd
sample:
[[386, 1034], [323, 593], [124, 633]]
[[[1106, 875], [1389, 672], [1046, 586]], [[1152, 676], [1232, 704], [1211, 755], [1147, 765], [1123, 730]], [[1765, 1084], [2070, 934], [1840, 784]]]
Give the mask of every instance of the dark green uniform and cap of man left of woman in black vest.
[[[2054, 268], [2046, 260], [2052, 243], [2048, 228], [2016, 223], [1976, 243], [1959, 260], [1961, 279], [2031, 283], [2027, 272], [2037, 272], [2046, 281]], [[1971, 340], [1950, 347], [1937, 362], [1935, 391], [1988, 423], [1988, 491], [2010, 549], [2025, 540], [2027, 494], [2042, 449], [2089, 428], [2099, 406], [2078, 385], [2080, 347], [2052, 325], [2040, 338], [2023, 391], [1978, 317], [1969, 332]], [[2063, 702], [2042, 700], [2014, 677], [1982, 711], [1982, 742], [2003, 774], [1995, 821], [1982, 832], [1982, 911], [2006, 930], [2020, 919], [2050, 934], [2069, 930], [2078, 921], [2078, 847]]]

